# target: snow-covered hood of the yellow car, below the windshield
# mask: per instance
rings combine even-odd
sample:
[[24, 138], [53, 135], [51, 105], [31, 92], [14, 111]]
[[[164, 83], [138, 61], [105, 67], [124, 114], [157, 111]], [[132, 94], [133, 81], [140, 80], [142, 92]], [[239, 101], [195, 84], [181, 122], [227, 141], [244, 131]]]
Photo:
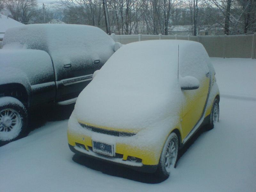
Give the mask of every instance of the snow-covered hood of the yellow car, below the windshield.
[[180, 113], [179, 97], [172, 92], [95, 90], [90, 85], [76, 101], [74, 113], [79, 123], [137, 133]]

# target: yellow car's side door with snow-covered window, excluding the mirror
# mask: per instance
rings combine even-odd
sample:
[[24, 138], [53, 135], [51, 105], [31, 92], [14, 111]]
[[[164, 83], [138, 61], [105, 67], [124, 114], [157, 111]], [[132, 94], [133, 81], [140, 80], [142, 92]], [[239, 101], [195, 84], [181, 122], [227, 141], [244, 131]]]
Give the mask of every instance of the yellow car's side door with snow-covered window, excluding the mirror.
[[186, 138], [193, 132], [198, 122], [203, 117], [204, 108], [209, 92], [209, 69], [200, 55], [179, 54], [180, 76], [193, 76], [199, 80], [199, 88], [195, 90], [182, 90], [182, 132]]

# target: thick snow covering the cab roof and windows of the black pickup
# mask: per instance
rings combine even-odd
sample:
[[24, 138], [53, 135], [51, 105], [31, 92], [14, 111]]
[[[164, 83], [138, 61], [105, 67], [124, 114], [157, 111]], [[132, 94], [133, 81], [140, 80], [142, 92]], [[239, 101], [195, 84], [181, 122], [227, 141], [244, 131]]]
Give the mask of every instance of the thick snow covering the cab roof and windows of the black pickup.
[[[88, 25], [31, 24], [8, 29], [3, 49], [25, 48], [43, 50], [52, 58], [54, 67], [94, 60], [105, 63], [114, 53], [115, 41], [103, 30]], [[56, 75], [59, 80], [58, 74]]]

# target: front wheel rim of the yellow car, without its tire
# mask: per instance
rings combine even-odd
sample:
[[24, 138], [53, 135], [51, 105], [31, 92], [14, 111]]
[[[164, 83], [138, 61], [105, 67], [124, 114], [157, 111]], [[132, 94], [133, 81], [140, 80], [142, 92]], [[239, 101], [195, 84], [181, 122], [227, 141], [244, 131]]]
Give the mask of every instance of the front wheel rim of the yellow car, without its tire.
[[174, 167], [178, 154], [178, 142], [175, 137], [172, 137], [167, 145], [165, 152], [164, 165], [166, 171]]

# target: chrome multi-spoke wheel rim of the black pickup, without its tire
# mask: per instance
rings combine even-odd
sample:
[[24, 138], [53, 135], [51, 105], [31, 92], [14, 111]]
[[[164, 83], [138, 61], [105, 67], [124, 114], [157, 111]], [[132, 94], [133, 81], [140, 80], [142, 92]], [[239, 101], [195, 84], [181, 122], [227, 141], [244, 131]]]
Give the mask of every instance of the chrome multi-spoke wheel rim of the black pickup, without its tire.
[[14, 109], [3, 109], [0, 111], [0, 132], [11, 132], [20, 129], [21, 116]]

